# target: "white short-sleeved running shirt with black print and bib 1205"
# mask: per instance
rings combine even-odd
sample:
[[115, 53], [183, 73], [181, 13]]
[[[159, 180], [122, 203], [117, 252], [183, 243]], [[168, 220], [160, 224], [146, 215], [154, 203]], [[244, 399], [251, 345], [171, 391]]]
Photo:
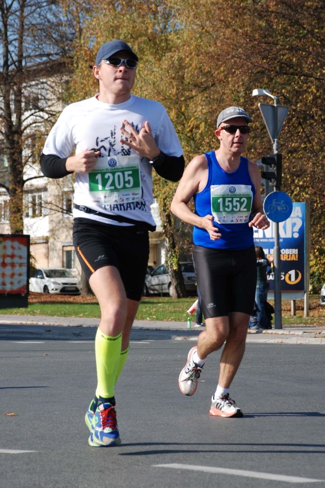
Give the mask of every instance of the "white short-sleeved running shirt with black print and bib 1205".
[[[90, 173], [76, 173], [74, 203], [96, 211], [147, 222], [154, 220], [150, 205], [152, 167], [132, 149], [119, 142], [124, 138], [120, 128], [127, 120], [139, 132], [148, 120], [159, 149], [169, 156], [181, 156], [182, 147], [163, 105], [131, 95], [120, 104], [100, 102], [97, 96], [68, 105], [48, 135], [43, 154], [60, 158], [85, 150], [100, 150]], [[73, 216], [86, 217], [113, 225], [128, 225], [85, 214], [76, 208]]]

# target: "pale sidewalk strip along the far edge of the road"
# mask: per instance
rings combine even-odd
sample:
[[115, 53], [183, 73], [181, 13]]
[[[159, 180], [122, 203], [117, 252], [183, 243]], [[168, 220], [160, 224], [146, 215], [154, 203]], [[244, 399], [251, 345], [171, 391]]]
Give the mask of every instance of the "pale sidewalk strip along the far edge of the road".
[[[50, 339], [92, 340], [99, 319], [84, 317], [47, 317], [0, 315], [0, 340]], [[187, 328], [186, 322], [136, 320], [132, 340], [173, 339], [196, 341], [203, 327]], [[248, 330], [247, 343], [325, 345], [322, 327], [283, 326], [282, 329]]]

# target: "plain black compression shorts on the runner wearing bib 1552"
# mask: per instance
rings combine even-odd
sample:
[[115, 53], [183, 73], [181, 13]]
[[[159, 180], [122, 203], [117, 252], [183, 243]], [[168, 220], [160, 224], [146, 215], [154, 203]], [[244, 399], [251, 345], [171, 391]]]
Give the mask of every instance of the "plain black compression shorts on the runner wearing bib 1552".
[[194, 246], [193, 261], [206, 319], [230, 312], [251, 314], [256, 289], [254, 246], [239, 251]]

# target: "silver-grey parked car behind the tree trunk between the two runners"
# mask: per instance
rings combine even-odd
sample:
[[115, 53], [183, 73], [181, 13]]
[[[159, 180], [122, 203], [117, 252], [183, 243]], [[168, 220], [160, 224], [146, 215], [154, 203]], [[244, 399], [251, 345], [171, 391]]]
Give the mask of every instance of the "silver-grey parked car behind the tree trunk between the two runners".
[[[186, 291], [196, 293], [197, 284], [193, 263], [181, 262], [180, 267]], [[165, 264], [160, 264], [149, 275], [146, 275], [143, 294], [146, 296], [157, 293], [168, 293], [173, 296], [173, 285]]]

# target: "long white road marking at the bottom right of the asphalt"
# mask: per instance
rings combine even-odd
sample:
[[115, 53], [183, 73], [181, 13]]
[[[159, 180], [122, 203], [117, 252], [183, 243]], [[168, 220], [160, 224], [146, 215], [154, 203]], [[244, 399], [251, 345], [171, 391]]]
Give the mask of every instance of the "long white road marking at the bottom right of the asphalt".
[[243, 469], [213, 468], [211, 466], [193, 466], [190, 464], [154, 464], [156, 468], [188, 469], [190, 471], [204, 471], [205, 473], [230, 474], [233, 476], [246, 476], [248, 478], [271, 479], [273, 481], [284, 481], [287, 483], [320, 483], [323, 479], [300, 478], [299, 476], [286, 476], [282, 474], [260, 473], [258, 471], [246, 471]]

